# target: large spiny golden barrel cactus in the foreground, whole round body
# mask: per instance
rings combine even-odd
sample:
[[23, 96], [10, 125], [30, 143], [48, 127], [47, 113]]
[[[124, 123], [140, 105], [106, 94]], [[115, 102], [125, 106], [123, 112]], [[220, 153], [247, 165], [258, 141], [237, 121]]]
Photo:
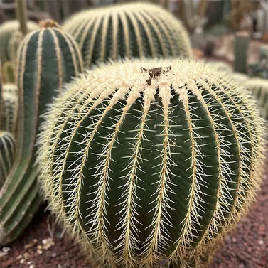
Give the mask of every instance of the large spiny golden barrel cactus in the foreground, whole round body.
[[262, 180], [264, 122], [248, 95], [191, 60], [111, 63], [68, 85], [45, 116], [38, 164], [92, 264], [210, 261]]

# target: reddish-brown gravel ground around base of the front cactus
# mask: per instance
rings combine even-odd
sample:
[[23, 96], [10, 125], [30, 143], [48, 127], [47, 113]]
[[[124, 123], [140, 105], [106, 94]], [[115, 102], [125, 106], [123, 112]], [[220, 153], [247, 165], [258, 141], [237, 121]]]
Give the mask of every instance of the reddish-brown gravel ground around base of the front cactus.
[[[48, 213], [36, 217], [24, 235], [0, 251], [1, 268], [90, 268], [78, 245]], [[268, 267], [268, 177], [250, 213], [225, 239], [209, 268]]]

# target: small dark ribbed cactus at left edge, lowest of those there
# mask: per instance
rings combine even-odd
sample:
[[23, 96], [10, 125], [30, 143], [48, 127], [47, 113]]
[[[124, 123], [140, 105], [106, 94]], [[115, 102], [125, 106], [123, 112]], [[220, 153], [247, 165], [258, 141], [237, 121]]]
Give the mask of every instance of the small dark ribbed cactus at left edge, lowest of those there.
[[10, 132], [0, 131], [0, 188], [14, 162], [15, 140]]

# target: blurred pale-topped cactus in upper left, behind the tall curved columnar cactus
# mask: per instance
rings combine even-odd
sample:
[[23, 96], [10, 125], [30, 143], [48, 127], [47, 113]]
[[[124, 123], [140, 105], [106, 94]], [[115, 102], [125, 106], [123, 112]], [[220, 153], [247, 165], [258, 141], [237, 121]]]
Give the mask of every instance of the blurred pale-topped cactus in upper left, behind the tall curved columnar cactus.
[[[38, 24], [33, 21], [28, 21], [27, 26], [29, 32], [38, 29]], [[14, 41], [14, 36], [18, 36], [19, 28], [18, 21], [6, 21], [0, 27], [0, 59], [2, 64], [14, 60], [14, 46], [10, 42]], [[16, 47], [18, 48], [18, 45]]]

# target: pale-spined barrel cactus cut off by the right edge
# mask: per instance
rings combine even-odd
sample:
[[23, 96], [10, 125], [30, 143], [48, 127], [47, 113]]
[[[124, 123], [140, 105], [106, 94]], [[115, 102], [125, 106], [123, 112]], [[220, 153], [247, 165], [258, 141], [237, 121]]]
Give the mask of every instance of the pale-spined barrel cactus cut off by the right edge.
[[268, 80], [262, 78], [251, 78], [244, 82], [257, 100], [261, 114], [268, 119]]

